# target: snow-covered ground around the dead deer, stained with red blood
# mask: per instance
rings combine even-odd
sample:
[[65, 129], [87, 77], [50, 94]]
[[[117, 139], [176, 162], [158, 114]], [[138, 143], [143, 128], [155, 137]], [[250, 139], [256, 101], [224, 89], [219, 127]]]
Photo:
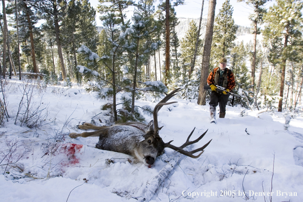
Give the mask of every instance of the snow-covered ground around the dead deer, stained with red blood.
[[[38, 128], [20, 127], [20, 120], [14, 122], [22, 85], [15, 81], [6, 86], [11, 118], [0, 128], [1, 201], [137, 201], [167, 165], [165, 160], [176, 155], [166, 148], [148, 168], [130, 163], [131, 156], [94, 148], [98, 137], [69, 138], [69, 133], [81, 132], [76, 125], [91, 122], [92, 117], [97, 125], [108, 120], [100, 110], [104, 102], [77, 86], [36, 84], [32, 111], [40, 105], [47, 117]], [[154, 107], [157, 102], [150, 100], [147, 96], [136, 105]], [[210, 124], [208, 105], [171, 100], [178, 104], [164, 106], [158, 113], [164, 142], [174, 140], [179, 146], [194, 127], [192, 139], [208, 132], [189, 149], [212, 142], [198, 159], [182, 155], [151, 201], [269, 201], [270, 195], [272, 201], [303, 201], [302, 114], [292, 118], [285, 130], [285, 113], [246, 110], [241, 117], [243, 108], [228, 106], [225, 118]], [[7, 166], [8, 159], [17, 163]], [[115, 163], [108, 164], [107, 159]]]

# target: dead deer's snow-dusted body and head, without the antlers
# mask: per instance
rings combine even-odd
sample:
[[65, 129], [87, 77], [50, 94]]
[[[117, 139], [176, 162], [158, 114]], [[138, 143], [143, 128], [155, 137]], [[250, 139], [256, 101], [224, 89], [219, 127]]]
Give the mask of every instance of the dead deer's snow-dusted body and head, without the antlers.
[[150, 166], [164, 152], [162, 138], [154, 138], [153, 121], [147, 125], [141, 122], [115, 124], [111, 127], [97, 127], [90, 123], [78, 126], [82, 130], [97, 130], [86, 133], [70, 133], [72, 138], [97, 137], [96, 148], [123, 153], [135, 157], [138, 161]]

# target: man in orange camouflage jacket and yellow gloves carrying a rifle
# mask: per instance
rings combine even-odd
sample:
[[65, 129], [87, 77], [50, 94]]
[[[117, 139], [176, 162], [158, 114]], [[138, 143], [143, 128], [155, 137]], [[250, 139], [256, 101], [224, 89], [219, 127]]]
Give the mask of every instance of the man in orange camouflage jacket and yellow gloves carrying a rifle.
[[214, 68], [207, 78], [207, 83], [212, 89], [211, 100], [209, 102], [211, 123], [216, 123], [216, 107], [218, 104], [220, 107], [219, 118], [225, 117], [226, 104], [230, 96], [225, 91], [217, 92], [216, 86], [221, 86], [228, 92], [235, 87], [234, 74], [230, 69], [226, 68], [226, 63], [226, 58], [221, 58], [219, 60], [219, 67]]

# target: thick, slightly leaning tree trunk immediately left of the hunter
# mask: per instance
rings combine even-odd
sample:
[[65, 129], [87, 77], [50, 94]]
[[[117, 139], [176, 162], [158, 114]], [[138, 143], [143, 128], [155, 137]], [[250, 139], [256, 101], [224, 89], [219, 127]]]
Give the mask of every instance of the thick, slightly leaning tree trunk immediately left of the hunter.
[[215, 9], [216, 9], [216, 0], [210, 0], [208, 7], [205, 44], [204, 44], [202, 67], [201, 67], [201, 79], [200, 79], [199, 96], [197, 102], [198, 105], [206, 105], [206, 90], [204, 89], [204, 86], [207, 84], [210, 54], [211, 54], [213, 32], [214, 32]]

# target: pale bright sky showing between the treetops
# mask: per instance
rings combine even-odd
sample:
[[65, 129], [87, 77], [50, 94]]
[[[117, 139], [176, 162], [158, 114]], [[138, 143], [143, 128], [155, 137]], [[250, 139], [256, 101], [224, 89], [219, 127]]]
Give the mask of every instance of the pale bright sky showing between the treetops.
[[[98, 0], [90, 0], [91, 6], [95, 7], [99, 4]], [[158, 1], [159, 2], [159, 1]], [[217, 0], [216, 4], [216, 11], [215, 15], [219, 13], [219, 9], [222, 8], [222, 4], [225, 2], [225, 0]], [[159, 3], [156, 3], [158, 5]], [[208, 14], [208, 4], [209, 1], [205, 0], [204, 2], [204, 9], [203, 9], [203, 18], [207, 18]], [[237, 0], [230, 0], [230, 4], [234, 8], [233, 17], [235, 20], [235, 23], [239, 26], [249, 27], [250, 26], [250, 20], [248, 19], [248, 16], [250, 13], [253, 13], [253, 8], [248, 6], [244, 2], [237, 2]], [[201, 14], [201, 5], [202, 1], [189, 1], [185, 0], [185, 5], [177, 6], [175, 7], [176, 15], [177, 17], [185, 17], [185, 18], [199, 18]], [[270, 2], [266, 5], [266, 8], [269, 8], [269, 6], [273, 5], [273, 2]], [[129, 12], [131, 15], [131, 12]], [[99, 14], [97, 13], [97, 26], [102, 26], [102, 22], [99, 19]]]

